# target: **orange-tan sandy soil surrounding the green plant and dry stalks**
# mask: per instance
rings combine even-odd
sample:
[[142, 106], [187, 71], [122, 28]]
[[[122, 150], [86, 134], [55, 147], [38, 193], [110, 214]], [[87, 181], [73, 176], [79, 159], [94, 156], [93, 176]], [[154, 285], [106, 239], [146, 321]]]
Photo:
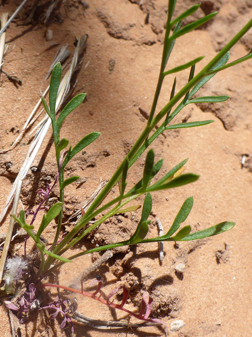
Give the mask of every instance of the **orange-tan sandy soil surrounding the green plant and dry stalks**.
[[[198, 2], [198, 1], [197, 1]], [[194, 0], [178, 0], [176, 13], [181, 13]], [[211, 57], [233, 37], [251, 18], [250, 0], [201, 1], [199, 13], [187, 20], [196, 19], [214, 10], [218, 15], [205, 27], [180, 37], [174, 47], [169, 66], [173, 67], [191, 59], [206, 55], [199, 65], [206, 64]], [[21, 1], [2, 1], [1, 11], [12, 13]], [[92, 131], [101, 132], [100, 137], [76, 156], [70, 163], [67, 174], [84, 179], [81, 186], [66, 189], [66, 217], [77, 210], [99, 184], [100, 177], [109, 179], [114, 168], [121, 162], [130, 146], [134, 144], [146, 122], [139, 107], [149, 111], [152, 103], [166, 21], [167, 0], [66, 0], [59, 2], [47, 26], [39, 17], [49, 1], [42, 2], [35, 12], [33, 24], [22, 25], [31, 11], [33, 2], [28, 1], [19, 17], [10, 24], [6, 39], [8, 51], [3, 69], [23, 82], [15, 85], [1, 74], [0, 87], [0, 140], [1, 148], [8, 148], [22, 129], [34, 108], [40, 89], [47, 83], [44, 79], [54, 58], [57, 45], [69, 43], [73, 53], [76, 37], [88, 34], [88, 47], [78, 73], [78, 84], [73, 95], [87, 93], [87, 100], [65, 121], [62, 135], [76, 144]], [[146, 23], [146, 15], [149, 21]], [[53, 32], [53, 40], [47, 42], [46, 30]], [[252, 46], [249, 32], [231, 51], [230, 59], [245, 55]], [[236, 222], [236, 226], [219, 236], [197, 242], [164, 243], [165, 258], [160, 265], [158, 245], [123, 248], [117, 250], [107, 264], [97, 272], [104, 278], [105, 294], [110, 289], [124, 284], [130, 287], [129, 306], [138, 307], [141, 293], [148, 290], [153, 297], [153, 316], [162, 318], [170, 330], [170, 324], [183, 319], [185, 326], [172, 337], [247, 337], [251, 336], [251, 76], [252, 61], [229, 68], [209, 81], [200, 91], [200, 96], [211, 94], [230, 95], [220, 104], [189, 105], [177, 116], [177, 121], [215, 119], [210, 125], [181, 131], [166, 131], [165, 137], [153, 144], [156, 158], [164, 158], [164, 169], [168, 170], [189, 157], [187, 172], [200, 174], [200, 179], [185, 187], [153, 194], [154, 207], [150, 217], [152, 223], [148, 235], [157, 236], [156, 219], [160, 219], [164, 230], [171, 225], [184, 199], [194, 196], [194, 207], [185, 224], [193, 229], [203, 229], [225, 220]], [[187, 80], [188, 71], [177, 76], [178, 89]], [[165, 80], [158, 108], [167, 102], [173, 77]], [[11, 185], [22, 165], [28, 148], [29, 132], [12, 151], [0, 157], [0, 207], [5, 204]], [[51, 146], [51, 131], [48, 133], [39, 155], [32, 166], [39, 172], [30, 171], [22, 190], [25, 208], [34, 207], [38, 200], [36, 190], [44, 187], [55, 177], [54, 149]], [[246, 163], [241, 167], [241, 159]], [[138, 181], [144, 158], [130, 173], [130, 181]], [[115, 188], [116, 191], [116, 188]], [[57, 196], [57, 190], [52, 197]], [[54, 199], [55, 200], [55, 199]], [[100, 226], [93, 233], [94, 243], [104, 244], [128, 237], [139, 213], [129, 217], [118, 216]], [[1, 225], [5, 233], [9, 214]], [[125, 228], [125, 230], [122, 230]], [[48, 229], [50, 238], [54, 229]], [[83, 243], [85, 244], [85, 242]], [[14, 254], [21, 255], [23, 246], [17, 243]], [[77, 249], [82, 249], [77, 247]], [[216, 258], [216, 253], [219, 258]], [[79, 258], [75, 264], [62, 267], [60, 284], [68, 285], [98, 254]], [[177, 277], [174, 265], [186, 265], [183, 277]], [[78, 298], [78, 310], [97, 319], [118, 319], [121, 313], [110, 312], [107, 307]], [[11, 336], [8, 315], [3, 306], [0, 336]], [[22, 325], [22, 336], [47, 336], [49, 331], [37, 321]], [[57, 330], [58, 336], [65, 332]], [[76, 324], [77, 336], [163, 336], [156, 327], [138, 330], [95, 330]]]

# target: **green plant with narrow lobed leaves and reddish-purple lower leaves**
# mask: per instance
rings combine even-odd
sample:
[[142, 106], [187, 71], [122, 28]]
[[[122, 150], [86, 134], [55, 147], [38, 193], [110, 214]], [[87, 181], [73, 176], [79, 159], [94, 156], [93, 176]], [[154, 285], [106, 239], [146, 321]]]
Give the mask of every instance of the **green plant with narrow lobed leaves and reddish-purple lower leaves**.
[[[182, 204], [180, 210], [178, 211], [173, 223], [166, 232], [165, 235], [154, 238], [146, 238], [149, 231], [150, 220], [148, 220], [149, 215], [152, 210], [152, 193], [160, 190], [171, 189], [179, 186], [183, 186], [192, 182], [195, 182], [199, 176], [193, 173], [183, 173], [185, 168], [185, 163], [188, 158], [182, 160], [180, 163], [176, 164], [167, 173], [160, 177], [159, 171], [163, 165], [163, 159], [155, 161], [155, 155], [153, 149], [149, 149], [152, 142], [164, 131], [171, 129], [180, 129], [180, 128], [190, 128], [196, 126], [203, 126], [209, 123], [212, 123], [213, 120], [205, 121], [194, 121], [194, 122], [184, 122], [178, 124], [172, 124], [174, 117], [188, 104], [191, 103], [212, 103], [212, 102], [223, 102], [226, 101], [229, 96], [204, 96], [204, 97], [195, 97], [195, 94], [199, 89], [209, 81], [217, 72], [226, 69], [228, 67], [234, 66], [240, 62], [243, 62], [252, 57], [252, 52], [250, 51], [246, 56], [234, 61], [228, 62], [229, 59], [229, 50], [239, 41], [239, 39], [251, 28], [252, 20], [250, 20], [240, 32], [230, 40], [226, 46], [210, 61], [208, 64], [203, 67], [195, 75], [195, 66], [196, 64], [203, 59], [204, 56], [199, 56], [196, 59], [187, 62], [185, 64], [176, 66], [175, 68], [169, 69], [168, 60], [171, 55], [171, 52], [174, 47], [174, 43], [177, 38], [182, 35], [191, 32], [192, 30], [200, 27], [204, 23], [211, 20], [217, 12], [211, 13], [195, 22], [187, 24], [182, 27], [182, 20], [193, 14], [198, 8], [199, 5], [194, 5], [191, 8], [187, 9], [185, 12], [180, 14], [177, 18], [173, 18], [173, 12], [175, 8], [176, 0], [170, 0], [168, 4], [168, 15], [167, 15], [167, 24], [163, 45], [163, 54], [161, 60], [160, 73], [158, 78], [158, 83], [156, 87], [156, 92], [154, 95], [152, 108], [149, 114], [149, 119], [146, 123], [145, 128], [140, 134], [139, 138], [132, 146], [131, 150], [128, 152], [126, 157], [122, 160], [119, 167], [115, 170], [115, 173], [107, 183], [107, 185], [101, 190], [97, 197], [93, 200], [92, 204], [86, 211], [83, 212], [81, 219], [77, 224], [71, 229], [69, 233], [60, 238], [61, 233], [61, 224], [62, 217], [64, 212], [64, 189], [69, 184], [75, 182], [79, 177], [73, 176], [70, 178], [64, 178], [65, 167], [69, 161], [80, 151], [82, 151], [89, 144], [94, 142], [99, 137], [99, 132], [92, 132], [83, 137], [82, 140], [75, 146], [70, 146], [69, 141], [60, 135], [60, 129], [64, 119], [79, 106], [86, 94], [79, 94], [75, 96], [61, 111], [58, 117], [55, 116], [55, 104], [57, 98], [57, 92], [59, 87], [59, 82], [61, 78], [61, 65], [57, 63], [51, 74], [50, 80], [50, 90], [49, 90], [49, 106], [47, 105], [45, 99], [42, 97], [42, 102], [46, 113], [49, 115], [52, 123], [52, 131], [54, 138], [55, 146], [55, 157], [57, 163], [57, 176], [50, 186], [47, 184], [46, 190], [40, 189], [38, 194], [42, 196], [43, 200], [33, 212], [20, 210], [19, 217], [15, 217], [15, 220], [22, 226], [27, 232], [28, 237], [31, 237], [39, 252], [40, 252], [40, 267], [36, 269], [36, 272], [33, 273], [29, 279], [26, 280], [27, 290], [24, 295], [20, 298], [19, 303], [13, 304], [10, 301], [6, 301], [6, 306], [20, 314], [31, 310], [33, 302], [37, 299], [36, 291], [39, 288], [43, 287], [57, 287], [71, 290], [76, 293], [80, 293], [84, 296], [91, 297], [97, 301], [100, 301], [110, 307], [121, 309], [130, 315], [135, 316], [136, 318], [149, 321], [152, 323], [161, 323], [162, 321], [154, 318], [150, 318], [151, 314], [151, 302], [152, 299], [147, 292], [144, 292], [142, 299], [142, 308], [140, 313], [136, 314], [132, 311], [129, 311], [124, 308], [125, 302], [128, 297], [128, 290], [122, 288], [123, 299], [121, 304], [114, 304], [113, 301], [110, 301], [111, 297], [114, 296], [118, 289], [112, 291], [108, 295], [107, 299], [104, 300], [100, 297], [99, 291], [102, 285], [100, 280], [97, 280], [97, 289], [95, 292], [86, 292], [83, 290], [83, 284], [81, 284], [81, 290], [72, 289], [58, 284], [49, 284], [45, 283], [46, 279], [56, 270], [59, 269], [65, 263], [71, 263], [76, 257], [90, 254], [93, 252], [99, 252], [102, 250], [110, 250], [119, 246], [129, 246], [135, 244], [144, 244], [148, 242], [159, 242], [159, 241], [188, 241], [196, 240], [201, 238], [206, 238], [214, 236], [220, 233], [223, 233], [231, 229], [235, 223], [231, 221], [220, 222], [214, 226], [203, 229], [201, 231], [191, 233], [191, 226], [186, 225], [180, 229], [181, 223], [185, 221], [188, 214], [190, 213], [193, 207], [193, 197], [189, 196], [186, 198]], [[160, 111], [156, 111], [157, 102], [159, 99], [161, 87], [163, 81], [167, 75], [171, 75], [181, 70], [190, 68], [188, 82], [184, 87], [176, 93], [176, 77], [174, 78], [173, 86], [171, 88], [170, 100]], [[161, 125], [155, 130], [155, 127], [159, 122], [162, 122]], [[67, 149], [68, 148], [68, 149]], [[135, 163], [138, 158], [148, 149], [148, 152], [145, 156], [145, 164], [142, 172], [142, 179], [135, 183], [135, 185], [128, 187], [127, 185], [127, 176], [128, 171], [133, 163]], [[55, 203], [50, 209], [44, 214], [43, 219], [36, 229], [34, 234], [34, 223], [38, 212], [42, 209], [45, 209], [45, 202], [50, 195], [50, 192], [54, 186], [59, 185], [59, 202]], [[106, 202], [106, 196], [109, 194], [111, 189], [118, 184], [119, 190], [118, 195]], [[140, 205], [132, 205], [132, 201], [138, 198], [141, 195], [145, 195], [144, 202], [142, 205], [141, 219], [135, 228], [134, 234], [127, 240], [111, 243], [103, 246], [98, 246], [92, 249], [87, 249], [81, 251], [78, 254], [71, 255], [69, 254], [69, 249], [73, 247], [77, 242], [82, 238], [86, 237], [90, 232], [94, 231], [103, 221], [114, 216], [118, 213], [127, 213], [133, 212], [140, 208]], [[128, 205], [131, 203], [130, 205]], [[33, 214], [33, 218], [30, 224], [26, 223], [26, 214]], [[103, 214], [103, 215], [101, 215]], [[89, 224], [90, 220], [98, 218], [94, 223]], [[49, 249], [45, 248], [45, 244], [41, 241], [41, 235], [48, 224], [57, 218], [57, 227], [55, 231], [55, 236], [53, 243]], [[36, 226], [37, 228], [37, 226]], [[25, 243], [25, 259], [27, 258], [26, 252], [26, 243]], [[10, 281], [9, 281], [10, 282]], [[58, 313], [62, 315], [61, 328], [65, 327], [66, 323], [73, 325], [71, 318], [67, 314], [66, 304], [60, 298], [56, 298], [52, 303], [47, 303], [46, 305], [40, 306], [41, 308], [46, 308], [50, 310], [52, 317], [56, 317]]]

